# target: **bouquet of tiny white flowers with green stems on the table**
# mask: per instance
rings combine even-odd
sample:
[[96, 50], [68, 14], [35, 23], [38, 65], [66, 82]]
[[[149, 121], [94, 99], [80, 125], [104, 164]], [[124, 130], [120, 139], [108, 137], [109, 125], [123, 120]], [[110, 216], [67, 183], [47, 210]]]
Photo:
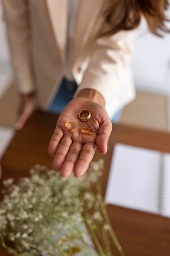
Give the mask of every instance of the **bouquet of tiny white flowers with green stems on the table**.
[[124, 256], [99, 185], [103, 166], [91, 162], [77, 179], [36, 164], [17, 184], [4, 180], [0, 244], [16, 256], [111, 256], [114, 243]]

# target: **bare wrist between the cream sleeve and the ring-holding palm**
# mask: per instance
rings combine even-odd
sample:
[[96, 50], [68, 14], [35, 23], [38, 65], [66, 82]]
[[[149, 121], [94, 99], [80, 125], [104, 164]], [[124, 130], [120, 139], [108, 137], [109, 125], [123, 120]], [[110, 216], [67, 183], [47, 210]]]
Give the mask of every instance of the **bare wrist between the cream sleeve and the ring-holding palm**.
[[79, 94], [77, 95], [77, 98], [90, 99], [91, 101], [94, 101], [102, 106], [104, 106], [104, 103], [105, 103], [104, 97], [102, 96], [102, 94], [100, 94], [99, 92], [93, 89], [84, 89], [80, 91]]

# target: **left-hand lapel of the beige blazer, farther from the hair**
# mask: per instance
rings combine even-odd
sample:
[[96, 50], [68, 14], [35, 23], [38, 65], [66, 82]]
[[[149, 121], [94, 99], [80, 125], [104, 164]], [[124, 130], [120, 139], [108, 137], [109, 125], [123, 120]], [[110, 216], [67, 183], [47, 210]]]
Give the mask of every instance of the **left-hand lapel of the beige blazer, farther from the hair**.
[[60, 49], [62, 61], [65, 60], [67, 38], [67, 0], [46, 0], [55, 41]]

